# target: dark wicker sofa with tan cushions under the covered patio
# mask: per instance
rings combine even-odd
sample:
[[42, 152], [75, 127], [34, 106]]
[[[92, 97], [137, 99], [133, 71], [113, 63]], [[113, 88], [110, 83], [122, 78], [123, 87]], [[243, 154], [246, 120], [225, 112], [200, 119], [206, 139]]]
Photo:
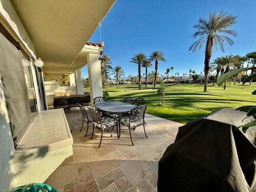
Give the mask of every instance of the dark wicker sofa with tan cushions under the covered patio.
[[77, 107], [77, 103], [88, 106], [91, 104], [90, 94], [74, 94], [74, 92], [55, 92], [53, 98], [53, 107], [70, 110], [71, 107]]

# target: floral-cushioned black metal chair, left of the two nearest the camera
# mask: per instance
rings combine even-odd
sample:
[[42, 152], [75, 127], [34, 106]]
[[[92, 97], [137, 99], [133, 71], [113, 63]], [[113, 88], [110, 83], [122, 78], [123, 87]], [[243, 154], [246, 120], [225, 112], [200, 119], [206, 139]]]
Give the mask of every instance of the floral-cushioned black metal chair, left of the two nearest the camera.
[[[96, 127], [98, 130], [101, 131], [101, 137], [100, 137], [100, 144], [101, 144], [103, 132], [105, 130], [108, 130], [109, 128], [112, 128], [112, 132], [111, 132], [111, 137], [112, 137], [114, 126], [116, 126], [116, 133], [117, 133], [117, 137], [119, 139], [118, 122], [115, 118], [101, 117], [99, 115], [98, 111], [91, 109], [91, 108], [89, 108], [89, 110], [90, 110], [90, 113], [92, 114], [92, 120], [93, 120], [92, 121], [93, 122], [93, 130], [92, 130], [91, 139], [94, 134], [94, 127]], [[99, 144], [98, 148], [100, 147], [100, 144]]]

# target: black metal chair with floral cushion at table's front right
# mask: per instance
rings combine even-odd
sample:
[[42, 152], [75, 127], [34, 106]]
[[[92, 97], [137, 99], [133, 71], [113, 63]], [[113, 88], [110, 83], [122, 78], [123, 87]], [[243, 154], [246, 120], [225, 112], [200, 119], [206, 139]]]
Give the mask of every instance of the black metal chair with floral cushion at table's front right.
[[[130, 138], [131, 138], [131, 142], [132, 142], [132, 134], [131, 134], [131, 130], [135, 130], [136, 127], [143, 125], [144, 128], [144, 132], [145, 132], [145, 136], [146, 138], [148, 138], [147, 134], [146, 134], [146, 130], [145, 130], [145, 112], [146, 112], [146, 105], [142, 105], [139, 106], [135, 109], [130, 110], [129, 116], [127, 118], [121, 118], [120, 122], [119, 122], [119, 136], [121, 133], [121, 127], [120, 127], [120, 123], [122, 123], [124, 126], [128, 127], [129, 132], [130, 132]], [[132, 142], [132, 145], [134, 145], [134, 143]]]

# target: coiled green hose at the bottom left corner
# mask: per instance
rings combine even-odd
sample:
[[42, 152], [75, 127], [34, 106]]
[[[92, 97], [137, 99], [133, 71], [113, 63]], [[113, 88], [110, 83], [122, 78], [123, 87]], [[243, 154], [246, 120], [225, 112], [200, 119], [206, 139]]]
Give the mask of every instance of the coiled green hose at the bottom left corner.
[[19, 186], [12, 189], [10, 192], [43, 192], [41, 189], [44, 188], [46, 192], [57, 192], [56, 189], [45, 183], [31, 183], [24, 186]]

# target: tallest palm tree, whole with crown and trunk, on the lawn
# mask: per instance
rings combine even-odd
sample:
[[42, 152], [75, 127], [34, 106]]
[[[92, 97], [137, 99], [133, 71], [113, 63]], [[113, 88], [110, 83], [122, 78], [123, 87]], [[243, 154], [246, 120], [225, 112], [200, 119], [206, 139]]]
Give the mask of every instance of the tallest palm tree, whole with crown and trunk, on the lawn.
[[196, 28], [197, 31], [192, 35], [192, 37], [196, 38], [197, 36], [200, 36], [200, 39], [194, 42], [192, 46], [190, 46], [189, 50], [194, 52], [197, 48], [200, 49], [204, 44], [206, 45], [204, 59], [204, 91], [207, 91], [212, 46], [215, 45], [216, 49], [220, 46], [220, 49], [224, 52], [224, 42], [227, 42], [230, 45], [234, 44], [232, 39], [221, 34], [236, 36], [236, 32], [227, 29], [236, 23], [235, 20], [235, 16], [227, 15], [223, 12], [218, 14], [214, 12], [210, 13], [209, 20], [200, 18], [198, 24], [194, 25], [194, 28]]

